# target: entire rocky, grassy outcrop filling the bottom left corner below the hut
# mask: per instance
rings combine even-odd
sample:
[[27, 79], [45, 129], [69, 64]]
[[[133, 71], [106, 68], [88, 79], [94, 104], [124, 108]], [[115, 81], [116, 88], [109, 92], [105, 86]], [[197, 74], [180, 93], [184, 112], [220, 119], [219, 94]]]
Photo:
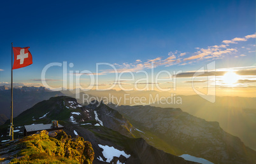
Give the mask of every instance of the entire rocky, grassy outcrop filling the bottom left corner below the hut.
[[49, 137], [43, 130], [22, 139], [0, 145], [5, 163], [92, 163], [94, 150], [82, 137], [71, 138], [64, 131]]

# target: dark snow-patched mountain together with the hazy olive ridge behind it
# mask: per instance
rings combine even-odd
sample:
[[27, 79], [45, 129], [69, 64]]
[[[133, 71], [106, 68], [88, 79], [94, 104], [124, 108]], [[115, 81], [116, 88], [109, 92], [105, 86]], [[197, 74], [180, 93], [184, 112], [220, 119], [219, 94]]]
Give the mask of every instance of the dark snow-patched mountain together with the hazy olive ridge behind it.
[[[256, 152], [217, 122], [197, 118], [181, 109], [116, 106], [94, 100], [87, 106], [71, 97], [43, 100], [14, 118], [15, 137], [23, 125], [59, 120], [64, 131], [92, 143], [94, 163], [192, 163], [184, 154], [213, 163], [255, 163]], [[0, 126], [6, 134], [8, 121]], [[6, 135], [0, 139], [6, 140]], [[118, 152], [111, 158], [107, 150]], [[120, 154], [121, 153], [121, 154]]]

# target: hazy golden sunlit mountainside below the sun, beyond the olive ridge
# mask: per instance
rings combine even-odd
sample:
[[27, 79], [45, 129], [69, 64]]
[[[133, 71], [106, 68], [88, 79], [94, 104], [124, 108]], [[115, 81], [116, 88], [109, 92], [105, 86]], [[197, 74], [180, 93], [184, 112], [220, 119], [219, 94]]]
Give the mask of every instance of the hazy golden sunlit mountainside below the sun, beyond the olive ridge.
[[199, 95], [179, 96], [181, 104], [161, 104], [150, 106], [180, 108], [193, 116], [206, 121], [217, 121], [226, 132], [236, 135], [246, 146], [256, 150], [256, 98], [255, 97], [216, 97], [214, 103]]

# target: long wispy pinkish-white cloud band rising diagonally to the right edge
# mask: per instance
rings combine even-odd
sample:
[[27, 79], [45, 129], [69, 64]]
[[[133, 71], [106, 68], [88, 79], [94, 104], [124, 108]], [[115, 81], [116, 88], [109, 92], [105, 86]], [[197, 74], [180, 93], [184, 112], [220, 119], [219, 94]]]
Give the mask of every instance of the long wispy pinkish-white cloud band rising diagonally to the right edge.
[[[113, 64], [117, 67], [117, 72], [136, 72], [142, 71], [144, 69], [151, 69], [152, 67], [169, 67], [171, 65], [187, 65], [192, 64], [198, 60], [214, 60], [224, 58], [225, 55], [232, 55], [238, 52], [238, 48], [228, 48], [229, 44], [236, 44], [241, 41], [247, 41], [250, 38], [255, 38], [255, 34], [247, 35], [244, 38], [233, 38], [231, 40], [224, 40], [220, 45], [208, 46], [208, 48], [199, 48], [196, 47], [194, 53], [190, 53], [192, 55], [188, 56], [187, 52], [181, 51], [170, 51], [167, 57], [156, 57], [152, 59], [148, 59], [145, 62], [137, 59], [133, 63], [123, 63], [123, 64]], [[253, 51], [249, 51], [253, 52]], [[244, 54], [240, 55], [241, 57], [245, 57]], [[236, 54], [235, 57], [238, 57]], [[153, 65], [152, 65], [153, 62]], [[105, 69], [101, 70], [100, 74], [107, 74], [107, 73], [115, 73], [114, 69]], [[99, 74], [99, 75], [100, 75]]]

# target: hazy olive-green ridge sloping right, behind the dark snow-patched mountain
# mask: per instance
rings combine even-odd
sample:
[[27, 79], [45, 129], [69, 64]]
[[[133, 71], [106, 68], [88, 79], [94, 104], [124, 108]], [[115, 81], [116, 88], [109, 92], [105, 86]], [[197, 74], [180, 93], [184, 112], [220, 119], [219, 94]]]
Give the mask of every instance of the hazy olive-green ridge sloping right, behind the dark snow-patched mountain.
[[[123, 114], [132, 125], [139, 126], [148, 135], [144, 138], [148, 138], [147, 141], [153, 146], [165, 149], [169, 153], [176, 155], [180, 155], [181, 152], [188, 153], [214, 163], [256, 161], [254, 157], [256, 152], [246, 147], [238, 137], [222, 130], [216, 121], [209, 122], [196, 118], [175, 108], [113, 104], [110, 104], [110, 107]], [[159, 136], [160, 140], [164, 140], [172, 149], [164, 145], [154, 145], [150, 137], [153, 135]]]

